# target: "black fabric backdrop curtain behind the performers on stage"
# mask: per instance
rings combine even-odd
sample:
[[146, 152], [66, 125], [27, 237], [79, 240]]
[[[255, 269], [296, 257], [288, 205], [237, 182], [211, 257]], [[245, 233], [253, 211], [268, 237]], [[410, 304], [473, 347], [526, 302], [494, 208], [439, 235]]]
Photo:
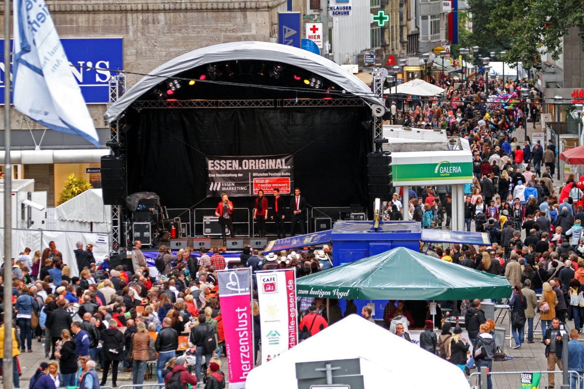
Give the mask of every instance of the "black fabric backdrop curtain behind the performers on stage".
[[[371, 130], [361, 122], [369, 115], [367, 107], [129, 110], [128, 194], [155, 192], [169, 208], [214, 208], [205, 155], [294, 154], [294, 181], [308, 204], [366, 205]], [[250, 198], [232, 201], [251, 206]]]

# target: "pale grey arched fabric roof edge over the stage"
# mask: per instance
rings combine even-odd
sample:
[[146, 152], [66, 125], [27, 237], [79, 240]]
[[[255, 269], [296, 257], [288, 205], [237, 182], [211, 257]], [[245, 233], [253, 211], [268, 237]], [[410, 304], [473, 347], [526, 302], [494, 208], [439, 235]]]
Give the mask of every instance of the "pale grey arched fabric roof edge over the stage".
[[249, 41], [223, 43], [199, 48], [173, 58], [164, 65], [158, 66], [158, 68], [150, 72], [150, 76], [145, 76], [135, 83], [116, 103], [107, 109], [104, 115], [105, 121], [110, 123], [115, 120], [135, 100], [142, 96], [142, 94], [147, 93], [152, 87], [158, 85], [166, 78], [171, 78], [200, 65], [212, 64], [214, 62], [236, 61], [238, 59], [257, 59], [259, 61], [274, 61], [298, 66], [336, 83], [336, 85], [346, 90], [347, 94], [361, 97], [368, 103], [383, 105], [380, 99], [373, 97], [369, 86], [329, 59], [301, 48], [277, 43]]

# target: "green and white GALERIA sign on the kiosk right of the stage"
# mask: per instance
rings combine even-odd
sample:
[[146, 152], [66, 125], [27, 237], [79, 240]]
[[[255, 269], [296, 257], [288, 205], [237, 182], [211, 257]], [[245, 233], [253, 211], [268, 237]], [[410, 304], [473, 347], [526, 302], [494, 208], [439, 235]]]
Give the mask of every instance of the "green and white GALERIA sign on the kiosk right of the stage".
[[392, 171], [394, 183], [472, 180], [472, 162], [394, 164]]

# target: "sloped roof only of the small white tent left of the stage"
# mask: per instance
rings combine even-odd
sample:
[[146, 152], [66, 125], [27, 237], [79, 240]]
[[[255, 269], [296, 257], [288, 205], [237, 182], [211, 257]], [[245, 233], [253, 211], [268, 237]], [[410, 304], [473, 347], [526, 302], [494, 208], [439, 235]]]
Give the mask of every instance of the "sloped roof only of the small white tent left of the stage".
[[70, 222], [109, 223], [110, 206], [103, 205], [101, 189], [89, 189], [55, 207], [55, 219]]

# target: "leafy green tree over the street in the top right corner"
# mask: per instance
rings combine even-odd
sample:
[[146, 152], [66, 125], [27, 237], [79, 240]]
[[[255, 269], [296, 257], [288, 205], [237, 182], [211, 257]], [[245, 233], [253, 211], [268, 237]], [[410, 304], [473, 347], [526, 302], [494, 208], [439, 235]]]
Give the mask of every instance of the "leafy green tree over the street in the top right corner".
[[[484, 0], [471, 0], [469, 6]], [[573, 26], [580, 27], [584, 5], [580, 0], [486, 0], [494, 7], [487, 15], [485, 32], [496, 41], [503, 41], [505, 62], [523, 62], [526, 69], [538, 65], [541, 54], [551, 53], [558, 59], [562, 53], [562, 38]], [[471, 7], [473, 23], [475, 10]], [[473, 31], [475, 30], [473, 26]], [[478, 33], [478, 31], [477, 31]], [[580, 32], [582, 36], [582, 32]]]

